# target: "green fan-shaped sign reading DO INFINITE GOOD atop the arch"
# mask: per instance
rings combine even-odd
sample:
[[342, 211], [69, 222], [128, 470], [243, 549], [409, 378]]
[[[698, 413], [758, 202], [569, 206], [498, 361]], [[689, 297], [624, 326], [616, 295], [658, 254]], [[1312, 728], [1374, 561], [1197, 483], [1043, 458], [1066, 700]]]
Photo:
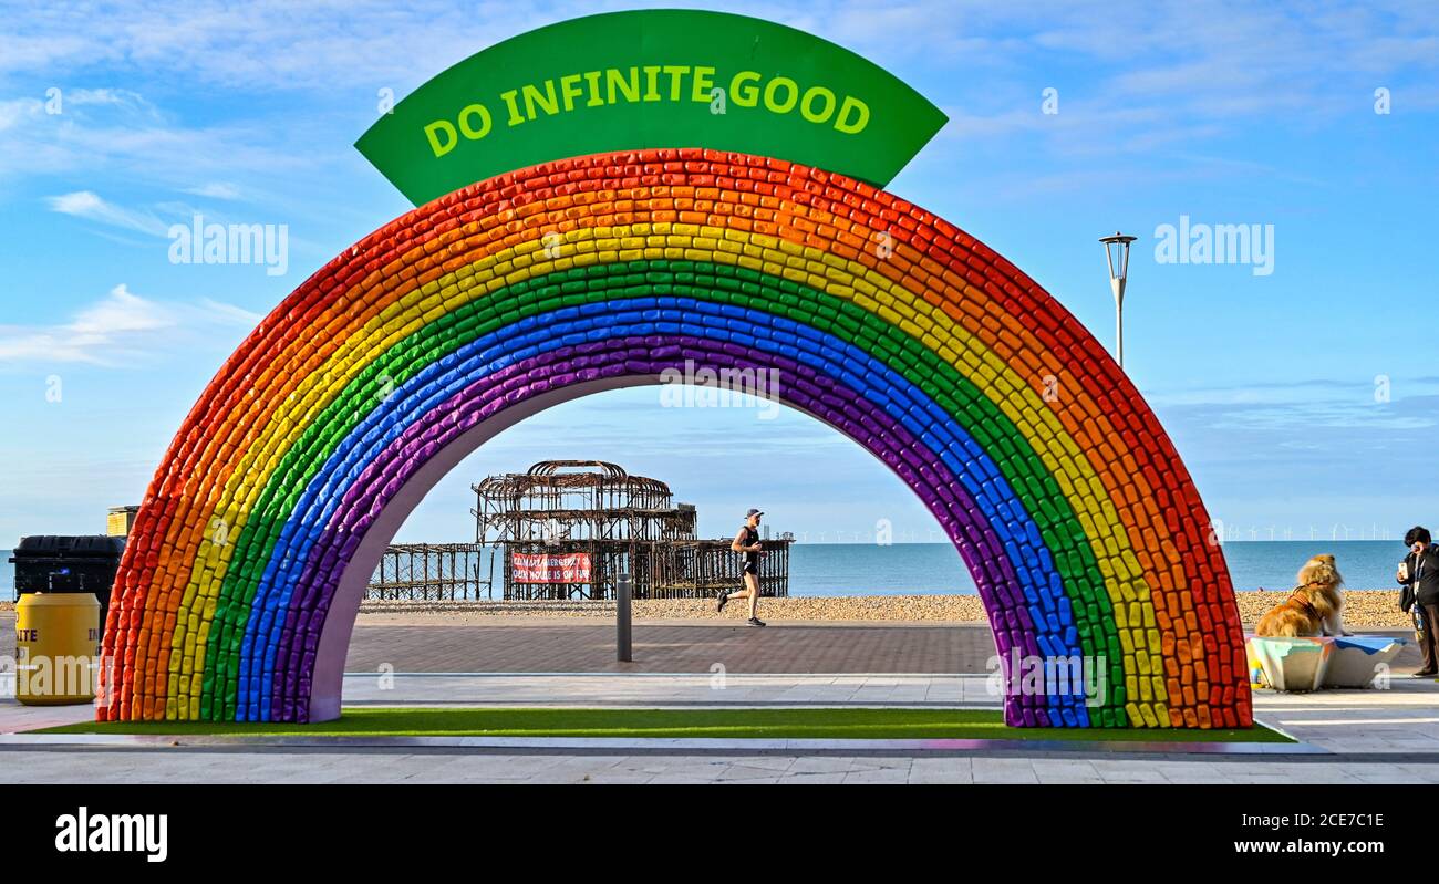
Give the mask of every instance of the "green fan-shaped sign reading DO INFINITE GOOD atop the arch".
[[656, 147], [777, 157], [885, 185], [944, 122], [894, 75], [793, 27], [640, 10], [472, 55], [355, 147], [419, 206], [550, 160]]

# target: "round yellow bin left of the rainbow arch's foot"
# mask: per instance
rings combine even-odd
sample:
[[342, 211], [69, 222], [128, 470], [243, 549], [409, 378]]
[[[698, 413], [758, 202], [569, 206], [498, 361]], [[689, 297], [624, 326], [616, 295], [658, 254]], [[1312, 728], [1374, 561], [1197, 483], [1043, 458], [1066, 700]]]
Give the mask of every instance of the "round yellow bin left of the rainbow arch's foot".
[[14, 607], [14, 697], [27, 706], [95, 699], [99, 601], [94, 592], [24, 592]]

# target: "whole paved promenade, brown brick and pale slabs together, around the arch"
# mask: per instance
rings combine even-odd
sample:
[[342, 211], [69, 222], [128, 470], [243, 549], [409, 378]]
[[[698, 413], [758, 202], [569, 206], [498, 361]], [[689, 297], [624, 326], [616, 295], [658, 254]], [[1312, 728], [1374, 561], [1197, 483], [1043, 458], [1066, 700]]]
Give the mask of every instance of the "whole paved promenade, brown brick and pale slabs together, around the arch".
[[[13, 630], [0, 634], [13, 637]], [[351, 648], [345, 699], [355, 706], [997, 706], [981, 676], [953, 674], [961, 666], [983, 671], [991, 653], [983, 627], [637, 624], [630, 666], [613, 661], [612, 641], [612, 625], [573, 621], [423, 630], [366, 624]], [[832, 668], [820, 670], [816, 660]], [[381, 678], [381, 664], [400, 674]], [[1413, 661], [1402, 664], [1413, 668]], [[525, 671], [535, 666], [563, 674]], [[868, 671], [856, 671], [862, 668]], [[440, 670], [479, 674], [436, 674]], [[576, 742], [473, 739], [60, 747], [36, 737], [0, 736], [0, 765], [10, 782], [1439, 783], [1439, 684], [1432, 680], [1397, 674], [1389, 690], [1259, 691], [1255, 707], [1262, 722], [1298, 737], [1309, 753], [1180, 755], [1052, 745], [855, 750], [839, 743], [806, 749], [753, 743], [737, 749], [663, 740], [581, 747]], [[0, 733], [89, 714], [83, 706], [23, 707], [0, 700]]]

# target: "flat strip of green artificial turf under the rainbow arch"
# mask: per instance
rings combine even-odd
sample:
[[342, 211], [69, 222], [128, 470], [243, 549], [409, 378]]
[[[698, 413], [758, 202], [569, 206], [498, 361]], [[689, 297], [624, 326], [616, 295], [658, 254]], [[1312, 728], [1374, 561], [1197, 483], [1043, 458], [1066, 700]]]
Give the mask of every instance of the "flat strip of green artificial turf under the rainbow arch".
[[86, 722], [30, 733], [170, 736], [566, 736], [722, 739], [1131, 740], [1292, 743], [1246, 730], [1006, 727], [990, 709], [345, 709], [335, 722]]

